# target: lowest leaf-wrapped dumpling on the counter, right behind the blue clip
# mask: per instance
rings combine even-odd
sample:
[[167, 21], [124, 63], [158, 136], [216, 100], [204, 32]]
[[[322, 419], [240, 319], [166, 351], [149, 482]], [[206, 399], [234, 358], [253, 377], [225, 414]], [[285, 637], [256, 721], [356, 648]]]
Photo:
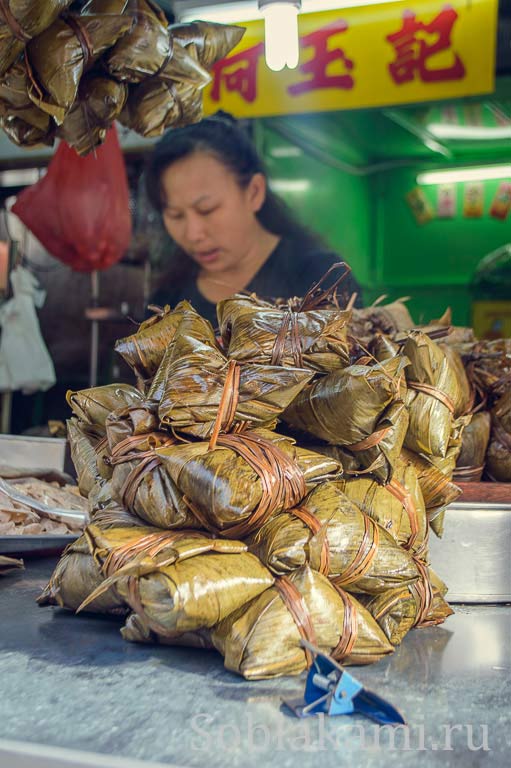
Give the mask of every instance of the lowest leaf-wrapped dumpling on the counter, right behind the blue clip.
[[211, 636], [226, 668], [248, 680], [303, 672], [310, 657], [302, 638], [343, 664], [370, 664], [393, 650], [354, 597], [308, 567], [277, 579]]

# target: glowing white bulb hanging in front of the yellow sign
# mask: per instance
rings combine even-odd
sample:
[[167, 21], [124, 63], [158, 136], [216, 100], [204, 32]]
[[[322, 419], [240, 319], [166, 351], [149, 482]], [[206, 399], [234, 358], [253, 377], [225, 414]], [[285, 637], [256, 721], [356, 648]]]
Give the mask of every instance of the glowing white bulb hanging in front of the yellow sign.
[[295, 69], [300, 58], [298, 12], [302, 0], [258, 0], [264, 18], [264, 53], [274, 72]]

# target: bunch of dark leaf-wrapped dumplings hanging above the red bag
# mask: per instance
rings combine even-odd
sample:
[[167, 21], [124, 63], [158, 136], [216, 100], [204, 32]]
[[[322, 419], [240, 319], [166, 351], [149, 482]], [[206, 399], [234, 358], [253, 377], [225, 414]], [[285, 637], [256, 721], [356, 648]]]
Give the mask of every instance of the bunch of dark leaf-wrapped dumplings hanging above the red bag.
[[85, 155], [114, 120], [142, 136], [196, 122], [209, 71], [243, 33], [169, 26], [154, 0], [5, 0], [0, 126], [20, 146], [60, 137]]

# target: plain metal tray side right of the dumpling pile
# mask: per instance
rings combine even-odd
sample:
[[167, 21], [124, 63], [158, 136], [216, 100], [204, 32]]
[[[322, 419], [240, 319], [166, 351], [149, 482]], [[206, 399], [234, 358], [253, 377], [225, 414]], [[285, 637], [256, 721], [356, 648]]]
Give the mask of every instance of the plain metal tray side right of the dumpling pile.
[[430, 562], [451, 603], [511, 602], [511, 504], [450, 504], [443, 537], [430, 537]]

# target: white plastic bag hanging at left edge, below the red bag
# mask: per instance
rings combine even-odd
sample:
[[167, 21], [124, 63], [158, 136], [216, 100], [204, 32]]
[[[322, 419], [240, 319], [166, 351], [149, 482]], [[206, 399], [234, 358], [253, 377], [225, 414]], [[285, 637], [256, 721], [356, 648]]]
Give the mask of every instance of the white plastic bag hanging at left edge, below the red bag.
[[10, 275], [13, 297], [0, 307], [0, 391], [21, 389], [28, 395], [55, 384], [55, 368], [35, 311], [46, 292], [34, 275], [16, 267]]

